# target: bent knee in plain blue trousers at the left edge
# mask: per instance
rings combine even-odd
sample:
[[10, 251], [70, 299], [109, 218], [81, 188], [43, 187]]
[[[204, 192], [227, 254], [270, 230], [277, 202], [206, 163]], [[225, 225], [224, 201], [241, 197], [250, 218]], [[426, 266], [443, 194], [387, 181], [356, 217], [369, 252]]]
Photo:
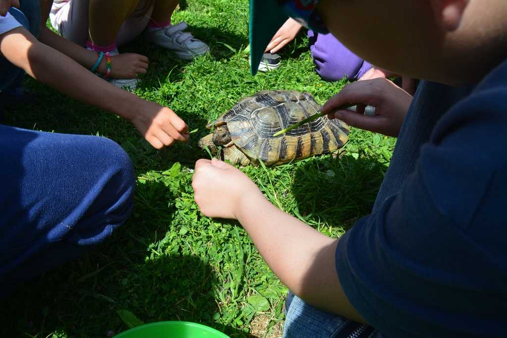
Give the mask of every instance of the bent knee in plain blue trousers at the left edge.
[[132, 163], [104, 137], [0, 125], [0, 176], [0, 298], [103, 242], [132, 209]]

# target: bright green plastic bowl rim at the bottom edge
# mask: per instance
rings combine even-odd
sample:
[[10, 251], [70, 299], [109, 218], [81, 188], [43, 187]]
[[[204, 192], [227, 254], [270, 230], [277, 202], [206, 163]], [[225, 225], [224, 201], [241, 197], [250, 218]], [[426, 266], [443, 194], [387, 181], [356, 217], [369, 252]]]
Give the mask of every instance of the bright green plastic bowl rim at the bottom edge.
[[229, 336], [201, 324], [171, 321], [137, 326], [113, 338], [229, 338]]

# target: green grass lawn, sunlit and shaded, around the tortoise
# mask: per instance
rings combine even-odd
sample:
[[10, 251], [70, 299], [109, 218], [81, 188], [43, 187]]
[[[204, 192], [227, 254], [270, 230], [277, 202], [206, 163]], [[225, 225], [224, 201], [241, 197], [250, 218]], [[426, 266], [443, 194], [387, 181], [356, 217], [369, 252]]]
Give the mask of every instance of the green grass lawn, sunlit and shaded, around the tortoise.
[[[27, 80], [35, 105], [10, 107], [6, 124], [27, 129], [101, 135], [128, 152], [137, 175], [134, 211], [111, 240], [84, 257], [26, 283], [3, 301], [6, 337], [105, 337], [135, 319], [200, 322], [231, 336], [276, 335], [286, 288], [237, 222], [209, 219], [193, 201], [194, 162], [205, 125], [242, 96], [263, 89], [312, 93], [319, 103], [345, 81], [327, 83], [314, 72], [300, 35], [282, 53], [279, 69], [249, 74], [246, 0], [189, 0], [175, 13], [210, 45], [192, 62], [136, 41], [123, 51], [148, 55], [150, 71], [137, 91], [171, 107], [188, 124], [188, 144], [156, 151], [127, 121], [80, 104]], [[343, 156], [244, 172], [275, 205], [329, 236], [338, 237], [371, 210], [395, 140], [353, 129]], [[122, 314], [122, 317], [120, 316]], [[126, 318], [127, 317], [127, 318]]]

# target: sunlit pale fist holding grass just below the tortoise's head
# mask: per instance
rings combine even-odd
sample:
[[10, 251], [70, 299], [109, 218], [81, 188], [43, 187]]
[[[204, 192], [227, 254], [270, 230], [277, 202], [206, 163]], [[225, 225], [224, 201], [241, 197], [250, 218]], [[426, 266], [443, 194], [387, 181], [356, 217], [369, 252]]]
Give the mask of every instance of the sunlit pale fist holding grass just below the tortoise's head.
[[257, 198], [261, 191], [239, 169], [217, 159], [198, 160], [192, 179], [194, 198], [208, 217], [234, 218]]

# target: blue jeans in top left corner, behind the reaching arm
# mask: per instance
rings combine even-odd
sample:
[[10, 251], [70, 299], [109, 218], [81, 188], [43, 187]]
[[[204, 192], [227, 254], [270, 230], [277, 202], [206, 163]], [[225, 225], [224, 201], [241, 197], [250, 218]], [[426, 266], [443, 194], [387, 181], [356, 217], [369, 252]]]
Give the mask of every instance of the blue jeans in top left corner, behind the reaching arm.
[[[41, 9], [38, 0], [21, 0], [19, 9], [11, 7], [9, 13], [30, 31], [33, 36], [38, 37], [41, 28]], [[21, 86], [24, 71], [10, 63], [0, 55], [0, 92], [9, 91]]]

